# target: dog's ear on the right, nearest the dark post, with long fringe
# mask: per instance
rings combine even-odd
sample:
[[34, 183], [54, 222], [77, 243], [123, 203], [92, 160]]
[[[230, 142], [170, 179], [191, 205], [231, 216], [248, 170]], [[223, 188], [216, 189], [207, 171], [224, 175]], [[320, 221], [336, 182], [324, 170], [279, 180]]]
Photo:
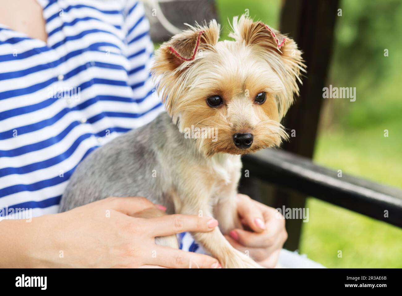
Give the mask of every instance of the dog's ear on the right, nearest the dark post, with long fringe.
[[265, 58], [281, 78], [287, 97], [279, 101], [282, 117], [293, 102], [293, 93], [299, 93], [297, 80], [301, 83], [301, 72], [305, 72], [306, 67], [296, 42], [264, 23], [253, 22], [244, 15], [233, 18], [232, 33], [229, 37], [254, 46], [258, 55]]

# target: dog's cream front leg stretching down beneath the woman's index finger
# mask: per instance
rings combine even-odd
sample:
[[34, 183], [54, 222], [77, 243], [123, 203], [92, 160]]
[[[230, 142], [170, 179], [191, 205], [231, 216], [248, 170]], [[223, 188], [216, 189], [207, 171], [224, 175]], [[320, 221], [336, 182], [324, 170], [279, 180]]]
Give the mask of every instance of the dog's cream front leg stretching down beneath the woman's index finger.
[[[205, 216], [213, 217], [209, 206], [197, 207], [187, 204], [182, 208], [180, 213], [203, 213]], [[192, 232], [191, 234], [195, 241], [201, 244], [213, 257], [218, 259], [224, 268], [261, 268], [260, 265], [246, 256], [246, 254], [236, 250], [228, 240], [226, 240], [219, 228], [215, 228], [211, 232]]]

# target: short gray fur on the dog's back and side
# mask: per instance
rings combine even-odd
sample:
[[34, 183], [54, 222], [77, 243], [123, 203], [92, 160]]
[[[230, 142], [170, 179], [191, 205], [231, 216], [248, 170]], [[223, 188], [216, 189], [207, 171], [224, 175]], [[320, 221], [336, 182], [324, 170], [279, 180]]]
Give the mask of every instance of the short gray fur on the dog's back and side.
[[191, 141], [185, 141], [168, 114], [161, 113], [149, 124], [90, 153], [70, 178], [59, 211], [110, 196], [141, 196], [167, 206], [167, 212], [172, 213], [173, 205], [164, 194], [178, 176], [169, 168], [180, 161], [180, 151], [193, 150], [186, 147], [189, 144]]

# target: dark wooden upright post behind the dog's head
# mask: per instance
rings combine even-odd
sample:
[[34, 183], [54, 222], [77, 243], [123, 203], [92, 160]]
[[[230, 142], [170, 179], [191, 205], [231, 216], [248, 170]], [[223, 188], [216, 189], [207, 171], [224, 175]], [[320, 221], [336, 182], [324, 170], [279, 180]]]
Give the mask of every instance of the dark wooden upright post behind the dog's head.
[[[314, 153], [317, 126], [322, 106], [322, 88], [325, 86], [332, 53], [338, 0], [285, 0], [281, 11], [280, 31], [289, 34], [304, 52], [307, 74], [300, 87], [300, 96], [289, 109], [283, 122], [289, 130], [295, 130], [283, 149], [311, 158]], [[291, 182], [291, 180], [289, 180]], [[306, 196], [294, 191], [276, 188], [274, 205], [303, 208]], [[287, 220], [289, 238], [285, 247], [299, 247], [302, 220]]]

